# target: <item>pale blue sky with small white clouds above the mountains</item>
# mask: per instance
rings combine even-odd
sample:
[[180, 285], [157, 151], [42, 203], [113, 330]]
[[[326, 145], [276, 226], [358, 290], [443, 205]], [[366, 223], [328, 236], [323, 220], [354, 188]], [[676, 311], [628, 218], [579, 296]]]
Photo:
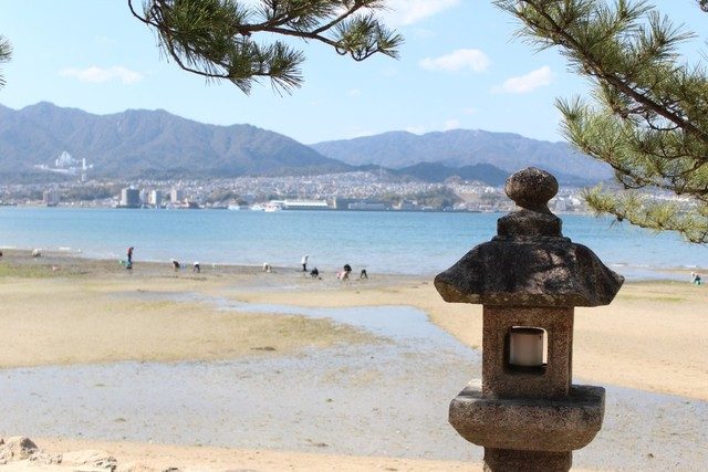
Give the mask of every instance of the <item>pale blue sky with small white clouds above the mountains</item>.
[[[694, 0], [654, 3], [705, 32], [708, 17]], [[553, 101], [586, 92], [586, 82], [566, 72], [556, 52], [512, 39], [514, 22], [490, 0], [388, 4], [388, 22], [406, 38], [400, 60], [355, 63], [303, 44], [303, 87], [280, 96], [266, 83], [247, 96], [168, 63], [125, 0], [0, 0], [0, 34], [14, 48], [0, 103], [49, 101], [97, 114], [163, 108], [204, 123], [249, 123], [306, 144], [451, 128], [561, 139]], [[689, 55], [698, 57], [702, 45], [694, 42]]]

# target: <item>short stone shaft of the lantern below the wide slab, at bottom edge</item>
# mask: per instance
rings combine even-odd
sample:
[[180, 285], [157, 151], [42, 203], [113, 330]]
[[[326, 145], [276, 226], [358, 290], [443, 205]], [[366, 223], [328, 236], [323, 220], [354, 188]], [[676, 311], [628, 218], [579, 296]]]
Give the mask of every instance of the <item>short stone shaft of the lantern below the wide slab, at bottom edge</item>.
[[485, 449], [485, 472], [565, 472], [571, 465], [570, 452]]

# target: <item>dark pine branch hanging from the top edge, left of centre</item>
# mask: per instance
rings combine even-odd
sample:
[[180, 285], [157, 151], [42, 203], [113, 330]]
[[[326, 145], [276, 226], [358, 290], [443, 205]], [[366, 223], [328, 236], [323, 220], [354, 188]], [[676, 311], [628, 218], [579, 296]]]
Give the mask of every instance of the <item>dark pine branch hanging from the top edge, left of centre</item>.
[[403, 42], [376, 17], [383, 0], [146, 0], [142, 12], [128, 6], [179, 67], [247, 94], [263, 78], [278, 91], [301, 85], [304, 54], [284, 36], [324, 43], [355, 61], [397, 57]]

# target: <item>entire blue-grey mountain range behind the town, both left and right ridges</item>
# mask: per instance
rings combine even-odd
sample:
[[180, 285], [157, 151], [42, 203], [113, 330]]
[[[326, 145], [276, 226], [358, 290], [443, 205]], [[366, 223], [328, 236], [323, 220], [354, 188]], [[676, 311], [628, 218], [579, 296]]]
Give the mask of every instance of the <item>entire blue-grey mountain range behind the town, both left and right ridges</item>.
[[503, 182], [534, 165], [564, 183], [589, 183], [610, 170], [563, 143], [479, 130], [413, 135], [405, 132], [305, 146], [250, 125], [207, 125], [165, 111], [94, 115], [39, 103], [20, 111], [0, 105], [0, 179], [39, 177], [63, 150], [94, 165], [93, 177], [210, 178], [312, 175], [378, 166], [426, 181], [451, 176]]

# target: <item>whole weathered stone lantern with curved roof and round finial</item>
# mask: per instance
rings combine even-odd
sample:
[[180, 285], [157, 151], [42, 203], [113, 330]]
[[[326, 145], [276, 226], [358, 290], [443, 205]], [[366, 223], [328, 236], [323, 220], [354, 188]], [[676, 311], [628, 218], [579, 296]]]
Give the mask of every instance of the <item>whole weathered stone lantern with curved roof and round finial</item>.
[[482, 380], [450, 403], [450, 423], [485, 447], [487, 471], [568, 471], [605, 410], [602, 387], [572, 385], [573, 311], [606, 305], [624, 277], [561, 233], [555, 178], [528, 168], [504, 188], [517, 209], [497, 237], [435, 277], [446, 302], [483, 305]]

